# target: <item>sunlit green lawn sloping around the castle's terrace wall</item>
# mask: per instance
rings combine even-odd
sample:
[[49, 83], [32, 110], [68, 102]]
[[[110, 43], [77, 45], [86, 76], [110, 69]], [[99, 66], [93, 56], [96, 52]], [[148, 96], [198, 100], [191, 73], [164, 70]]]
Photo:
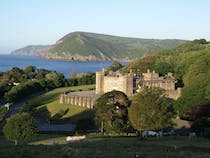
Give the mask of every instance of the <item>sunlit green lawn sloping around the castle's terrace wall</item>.
[[87, 118], [92, 111], [85, 107], [59, 104], [59, 96], [65, 91], [90, 90], [95, 85], [84, 85], [75, 87], [57, 88], [43, 95], [35, 97], [26, 103], [26, 106], [36, 107], [36, 114], [45, 119], [52, 119], [56, 122], [75, 123], [78, 119]]

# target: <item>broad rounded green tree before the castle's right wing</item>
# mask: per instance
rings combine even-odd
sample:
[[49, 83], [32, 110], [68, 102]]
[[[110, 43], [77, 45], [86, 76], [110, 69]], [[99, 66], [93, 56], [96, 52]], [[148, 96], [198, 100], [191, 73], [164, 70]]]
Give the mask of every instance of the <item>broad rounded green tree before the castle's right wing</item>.
[[133, 97], [129, 120], [140, 133], [145, 130], [162, 130], [172, 125], [172, 111], [163, 90], [144, 88]]

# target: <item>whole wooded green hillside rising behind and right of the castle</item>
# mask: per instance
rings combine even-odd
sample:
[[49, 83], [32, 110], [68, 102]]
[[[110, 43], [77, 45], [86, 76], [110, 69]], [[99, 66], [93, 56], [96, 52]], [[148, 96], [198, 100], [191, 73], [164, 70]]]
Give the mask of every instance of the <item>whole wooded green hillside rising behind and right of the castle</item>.
[[[177, 48], [159, 51], [156, 55], [137, 59], [122, 69], [135, 73], [155, 70], [161, 74], [173, 72], [182, 96], [174, 103], [178, 114], [188, 114], [195, 107], [210, 104], [210, 43], [205, 40], [187, 42]], [[210, 115], [210, 114], [208, 114]]]

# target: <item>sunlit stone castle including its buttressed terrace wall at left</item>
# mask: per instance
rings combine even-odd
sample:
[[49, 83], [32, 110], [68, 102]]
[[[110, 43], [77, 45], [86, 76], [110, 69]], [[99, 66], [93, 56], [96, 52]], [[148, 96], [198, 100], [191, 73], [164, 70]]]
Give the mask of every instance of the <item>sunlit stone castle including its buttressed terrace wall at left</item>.
[[96, 72], [96, 90], [64, 93], [60, 97], [60, 104], [71, 104], [93, 108], [98, 97], [106, 92], [118, 90], [124, 92], [128, 97], [140, 93], [142, 87], [159, 87], [165, 90], [168, 98], [178, 99], [181, 96], [181, 88], [176, 88], [176, 80], [172, 73], [160, 76], [155, 71], [136, 75], [130, 71], [122, 74], [120, 72], [106, 71], [102, 69]]

